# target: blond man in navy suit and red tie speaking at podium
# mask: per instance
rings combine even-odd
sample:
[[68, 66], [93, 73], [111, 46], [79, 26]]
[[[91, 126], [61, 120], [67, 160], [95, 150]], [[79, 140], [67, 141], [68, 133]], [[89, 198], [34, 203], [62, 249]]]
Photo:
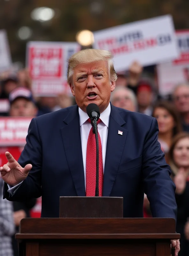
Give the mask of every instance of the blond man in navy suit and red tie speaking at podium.
[[[123, 197], [124, 217], [140, 218], [145, 193], [153, 217], [176, 220], [175, 185], [157, 141], [157, 121], [111, 105], [117, 79], [112, 59], [110, 52], [96, 49], [71, 56], [67, 79], [77, 105], [33, 118], [18, 162], [5, 153], [8, 162], [0, 167], [4, 198], [42, 196], [42, 217], [54, 218], [60, 196], [96, 195], [95, 134], [86, 110], [95, 103], [100, 112], [98, 196]], [[179, 241], [175, 255], [178, 251]]]

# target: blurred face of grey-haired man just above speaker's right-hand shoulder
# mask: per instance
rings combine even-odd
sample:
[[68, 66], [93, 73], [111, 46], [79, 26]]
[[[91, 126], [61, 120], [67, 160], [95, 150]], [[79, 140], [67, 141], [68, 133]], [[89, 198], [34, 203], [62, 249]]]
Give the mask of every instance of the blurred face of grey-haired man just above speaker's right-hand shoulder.
[[129, 111], [136, 111], [136, 107], [131, 98], [131, 95], [126, 90], [119, 90], [114, 92], [114, 96], [111, 102], [115, 107], [124, 108]]

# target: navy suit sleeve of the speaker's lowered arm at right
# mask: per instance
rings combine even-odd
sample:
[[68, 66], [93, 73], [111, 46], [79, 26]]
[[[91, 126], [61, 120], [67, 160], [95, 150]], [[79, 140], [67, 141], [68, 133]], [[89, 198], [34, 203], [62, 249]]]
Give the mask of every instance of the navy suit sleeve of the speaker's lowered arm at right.
[[143, 148], [144, 192], [150, 202], [152, 216], [177, 219], [175, 184], [170, 178], [170, 166], [158, 142], [158, 124], [154, 118]]

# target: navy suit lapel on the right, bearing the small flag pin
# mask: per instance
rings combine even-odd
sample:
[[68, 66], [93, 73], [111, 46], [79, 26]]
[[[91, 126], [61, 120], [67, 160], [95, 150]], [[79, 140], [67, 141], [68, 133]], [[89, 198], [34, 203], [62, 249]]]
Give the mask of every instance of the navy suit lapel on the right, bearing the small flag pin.
[[[123, 128], [124, 124], [125, 121], [120, 116], [117, 108], [111, 105], [104, 167], [103, 196], [110, 196], [117, 175], [127, 136], [127, 130]], [[123, 135], [118, 134], [118, 131], [123, 132]]]

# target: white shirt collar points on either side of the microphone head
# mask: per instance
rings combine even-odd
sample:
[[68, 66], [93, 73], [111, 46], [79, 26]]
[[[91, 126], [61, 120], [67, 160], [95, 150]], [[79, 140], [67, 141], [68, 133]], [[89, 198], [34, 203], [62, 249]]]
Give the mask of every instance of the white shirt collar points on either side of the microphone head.
[[[108, 127], [109, 126], [109, 119], [110, 119], [110, 103], [108, 107], [100, 114], [101, 121]], [[85, 113], [81, 108], [79, 108], [79, 124], [80, 126], [84, 124], [88, 119], [87, 113]]]

